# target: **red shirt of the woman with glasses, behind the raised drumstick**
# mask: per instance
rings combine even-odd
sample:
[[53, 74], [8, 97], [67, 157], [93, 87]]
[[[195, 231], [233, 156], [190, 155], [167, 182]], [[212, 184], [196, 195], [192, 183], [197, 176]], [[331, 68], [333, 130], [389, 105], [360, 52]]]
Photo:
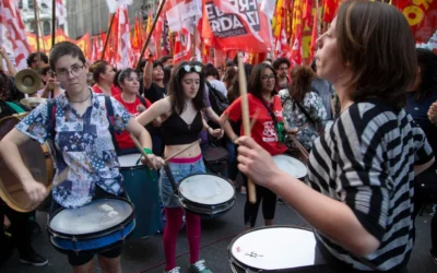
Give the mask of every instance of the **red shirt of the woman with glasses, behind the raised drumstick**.
[[[283, 154], [287, 147], [285, 144], [281, 144], [277, 140], [276, 130], [274, 128], [274, 122], [265, 106], [261, 103], [259, 98], [252, 94], [247, 95], [249, 104], [249, 119], [251, 120], [255, 116], [257, 109], [259, 109], [259, 115], [255, 126], [252, 128], [251, 134], [252, 139], [260, 144], [265, 151], [271, 155]], [[268, 104], [265, 102], [265, 104]], [[269, 105], [269, 104], [268, 104]], [[273, 103], [269, 105], [270, 109], [276, 116], [277, 121], [284, 121], [282, 115], [282, 104], [279, 96], [273, 96]], [[229, 119], [234, 122], [241, 120], [241, 97], [234, 100], [234, 103], [225, 110], [229, 112]], [[243, 135], [243, 126], [240, 135]]]

